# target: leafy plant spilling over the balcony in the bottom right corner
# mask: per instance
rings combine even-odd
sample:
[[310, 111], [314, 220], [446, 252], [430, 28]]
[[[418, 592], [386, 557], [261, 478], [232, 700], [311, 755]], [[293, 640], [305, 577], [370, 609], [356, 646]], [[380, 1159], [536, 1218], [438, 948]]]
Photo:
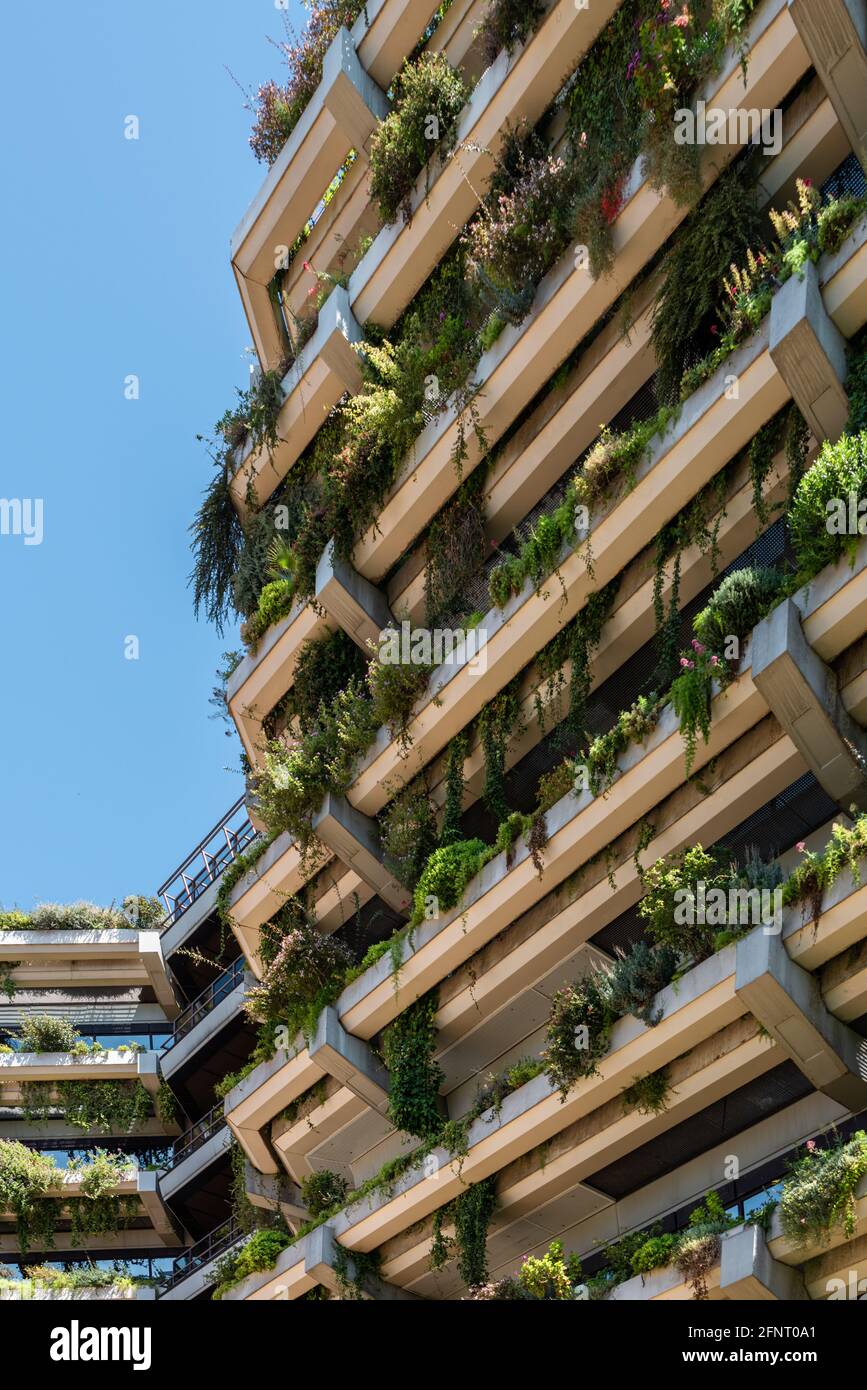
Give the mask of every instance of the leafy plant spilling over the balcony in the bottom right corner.
[[807, 1140], [792, 1161], [779, 1195], [784, 1234], [798, 1245], [825, 1245], [835, 1227], [846, 1240], [856, 1229], [854, 1194], [867, 1175], [867, 1133], [820, 1148]]

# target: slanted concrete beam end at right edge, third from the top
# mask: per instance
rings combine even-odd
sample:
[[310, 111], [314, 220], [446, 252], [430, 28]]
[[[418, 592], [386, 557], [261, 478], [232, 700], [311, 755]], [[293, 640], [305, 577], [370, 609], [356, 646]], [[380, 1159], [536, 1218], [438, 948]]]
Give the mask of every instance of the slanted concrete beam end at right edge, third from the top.
[[753, 631], [752, 674], [820, 785], [849, 810], [867, 809], [867, 737], [846, 712], [836, 676], [807, 642], [792, 599]]

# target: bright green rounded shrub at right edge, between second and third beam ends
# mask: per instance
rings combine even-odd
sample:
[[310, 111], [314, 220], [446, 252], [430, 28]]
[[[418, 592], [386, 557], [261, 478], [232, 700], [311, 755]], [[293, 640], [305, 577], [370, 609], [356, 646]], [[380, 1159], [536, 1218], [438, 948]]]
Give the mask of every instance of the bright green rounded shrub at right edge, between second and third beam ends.
[[867, 498], [867, 431], [843, 434], [836, 442], [825, 439], [818, 459], [798, 485], [789, 531], [803, 578], [818, 574], [843, 553], [854, 563], [860, 537], [857, 528], [854, 534], [841, 530], [838, 506], [848, 509], [850, 495], [856, 505]]

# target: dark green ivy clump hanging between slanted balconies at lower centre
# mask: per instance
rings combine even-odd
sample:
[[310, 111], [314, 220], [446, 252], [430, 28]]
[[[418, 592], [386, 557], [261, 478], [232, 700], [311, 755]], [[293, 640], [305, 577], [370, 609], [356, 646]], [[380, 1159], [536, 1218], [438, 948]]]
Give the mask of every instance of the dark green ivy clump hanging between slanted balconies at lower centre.
[[442, 1129], [439, 1087], [445, 1077], [436, 1051], [436, 991], [404, 1009], [382, 1034], [389, 1072], [388, 1115], [395, 1129], [432, 1138]]

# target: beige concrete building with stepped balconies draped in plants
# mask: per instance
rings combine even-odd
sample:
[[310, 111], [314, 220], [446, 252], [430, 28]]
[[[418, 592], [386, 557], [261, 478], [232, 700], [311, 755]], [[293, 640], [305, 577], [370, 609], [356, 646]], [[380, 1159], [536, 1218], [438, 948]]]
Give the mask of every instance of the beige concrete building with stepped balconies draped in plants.
[[0, 1140], [75, 1138], [3, 1259], [857, 1298], [867, 8], [336, 0], [285, 57], [195, 527], [246, 796], [128, 926], [0, 923]]

